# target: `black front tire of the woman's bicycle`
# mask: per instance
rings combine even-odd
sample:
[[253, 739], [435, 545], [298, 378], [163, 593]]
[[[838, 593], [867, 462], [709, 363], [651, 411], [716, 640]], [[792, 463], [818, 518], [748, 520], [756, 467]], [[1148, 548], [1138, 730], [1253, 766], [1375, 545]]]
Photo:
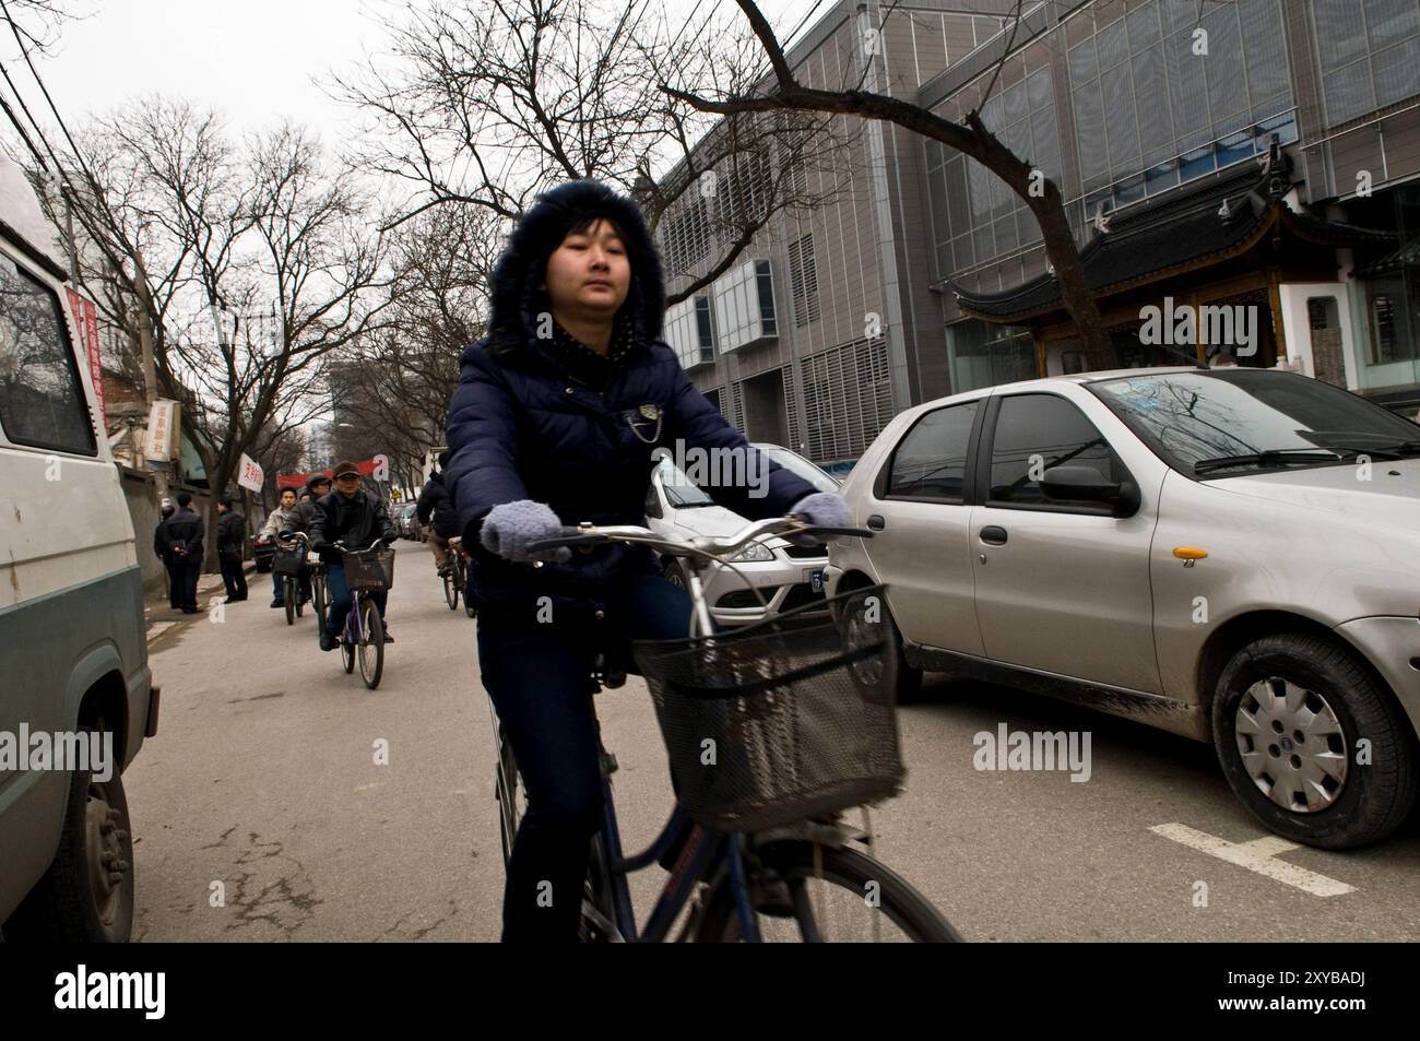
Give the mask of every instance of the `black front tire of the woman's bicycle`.
[[[821, 876], [825, 883], [852, 893], [851, 906], [855, 906], [855, 909], [856, 905], [868, 908], [868, 896], [876, 895], [878, 910], [905, 934], [907, 942], [961, 942], [961, 934], [957, 933], [941, 912], [886, 865], [856, 849], [834, 849], [832, 846], [818, 848], [819, 863], [815, 865], [814, 845], [814, 842], [807, 839], [785, 839], [760, 846], [751, 854], [751, 859], [757, 862], [757, 866], [751, 868], [751, 871], [768, 869], [790, 885], [791, 895], [795, 888], [807, 890], [808, 886], [805, 883]], [[822, 869], [821, 872], [819, 868]], [[873, 885], [876, 885], [876, 889], [870, 889]], [[812, 898], [809, 899], [812, 909]], [[757, 917], [761, 939], [767, 942], [775, 939], [768, 934], [767, 925], [788, 920], [770, 919], [765, 915], [758, 915]], [[798, 910], [794, 915], [794, 923], [799, 933], [798, 942], [802, 942], [805, 925]], [[822, 926], [824, 923], [815, 925]], [[728, 881], [721, 881], [706, 900], [706, 912], [696, 932], [696, 943], [734, 943], [738, 937], [740, 920], [734, 910], [734, 895], [730, 892]], [[824, 939], [826, 940], [828, 937]], [[862, 937], [851, 939], [862, 940]]]

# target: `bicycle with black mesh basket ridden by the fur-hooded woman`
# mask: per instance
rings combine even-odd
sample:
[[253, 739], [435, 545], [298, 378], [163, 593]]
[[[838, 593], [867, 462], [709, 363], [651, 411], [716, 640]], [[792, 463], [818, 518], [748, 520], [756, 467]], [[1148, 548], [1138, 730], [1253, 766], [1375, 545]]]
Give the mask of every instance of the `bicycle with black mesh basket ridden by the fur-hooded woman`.
[[[882, 683], [893, 646], [882, 631], [883, 588], [852, 589], [731, 632], [716, 632], [711, 622], [701, 584], [710, 562], [726, 562], [770, 535], [804, 533], [872, 537], [782, 517], [727, 538], [693, 540], [582, 524], [528, 547], [649, 545], [684, 564], [694, 608], [686, 639], [633, 645], [677, 802], [659, 838], [632, 856], [622, 852], [612, 802], [616, 758], [601, 744], [598, 723], [604, 810], [582, 902], [584, 940], [662, 942], [687, 905], [677, 940], [961, 939], [930, 900], [872, 856], [870, 827], [853, 828], [842, 815], [896, 794], [905, 775], [893, 689]], [[601, 653], [589, 696], [625, 680]], [[527, 802], [496, 712], [494, 736], [494, 795], [507, 863]], [[628, 876], [672, 854], [677, 842], [670, 878], [638, 927]]]

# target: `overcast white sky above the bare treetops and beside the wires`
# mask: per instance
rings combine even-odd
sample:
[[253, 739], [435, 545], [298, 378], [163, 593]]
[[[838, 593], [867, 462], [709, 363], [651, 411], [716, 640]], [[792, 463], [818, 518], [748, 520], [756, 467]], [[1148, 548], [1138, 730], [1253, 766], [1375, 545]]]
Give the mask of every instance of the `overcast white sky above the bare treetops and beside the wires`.
[[[816, 1], [819, 11], [829, 6]], [[733, 9], [733, 0], [700, 3]], [[792, 26], [814, 4], [765, 0], [763, 10]], [[696, 0], [665, 6], [689, 13]], [[288, 116], [320, 131], [327, 145], [339, 143], [352, 115], [312, 81], [359, 62], [362, 50], [379, 53], [382, 14], [392, 9], [389, 0], [70, 0], [68, 7], [88, 17], [65, 23], [53, 55], [36, 58], [65, 122], [158, 92], [220, 108], [241, 129]], [[406, 7], [393, 4], [396, 13]], [[31, 111], [43, 105], [13, 40], [0, 44], [0, 60]]]

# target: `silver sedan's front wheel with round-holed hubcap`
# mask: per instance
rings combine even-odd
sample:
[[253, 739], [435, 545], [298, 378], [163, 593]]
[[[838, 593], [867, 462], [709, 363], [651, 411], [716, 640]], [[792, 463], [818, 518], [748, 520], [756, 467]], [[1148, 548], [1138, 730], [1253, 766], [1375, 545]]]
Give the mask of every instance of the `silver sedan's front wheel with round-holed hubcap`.
[[1296, 842], [1363, 846], [1414, 804], [1409, 723], [1349, 649], [1316, 636], [1265, 636], [1233, 656], [1213, 697], [1213, 743], [1242, 804]]

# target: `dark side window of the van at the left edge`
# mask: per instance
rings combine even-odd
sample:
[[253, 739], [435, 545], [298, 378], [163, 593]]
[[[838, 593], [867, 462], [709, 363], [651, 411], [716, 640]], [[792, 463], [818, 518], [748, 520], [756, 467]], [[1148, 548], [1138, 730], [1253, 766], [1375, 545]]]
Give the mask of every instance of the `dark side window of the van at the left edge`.
[[0, 256], [0, 427], [16, 445], [97, 454], [58, 297]]

